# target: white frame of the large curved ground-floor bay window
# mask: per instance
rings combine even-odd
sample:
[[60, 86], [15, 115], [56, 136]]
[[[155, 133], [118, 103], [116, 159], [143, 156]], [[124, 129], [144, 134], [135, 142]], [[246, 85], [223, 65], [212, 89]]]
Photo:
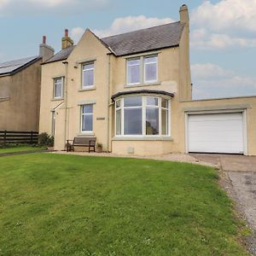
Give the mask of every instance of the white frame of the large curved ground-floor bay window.
[[[132, 96], [141, 96], [141, 95], [132, 95]], [[115, 100], [115, 111], [114, 111], [114, 134], [115, 134], [115, 137], [171, 137], [171, 99], [170, 98], [167, 98], [165, 96], [148, 96], [148, 95], [143, 95], [142, 98], [143, 98], [143, 106], [142, 107], [124, 107], [124, 99], [125, 97], [131, 97], [131, 96], [121, 96], [119, 98], [117, 98]], [[147, 98], [148, 97], [153, 97], [153, 98], [158, 98], [158, 105], [154, 105], [154, 106], [151, 106], [151, 105], [147, 105]], [[166, 109], [167, 110], [167, 114], [168, 114], [168, 120], [167, 120], [167, 134], [165, 135], [162, 135], [162, 120], [161, 120], [161, 101], [162, 99], [165, 99], [167, 100], [168, 102], [168, 108], [163, 108], [163, 109]], [[119, 108], [116, 108], [116, 102], [117, 101], [120, 101], [120, 107]], [[159, 109], [159, 134], [158, 135], [147, 135], [146, 134], [146, 109], [148, 108], [158, 108]], [[129, 135], [125, 135], [124, 131], [125, 131], [125, 115], [124, 115], [124, 109], [125, 108], [143, 108], [143, 134], [141, 135], [132, 135], [132, 134], [129, 134]], [[116, 112], [117, 110], [121, 109], [121, 134], [118, 135], [116, 133]]]

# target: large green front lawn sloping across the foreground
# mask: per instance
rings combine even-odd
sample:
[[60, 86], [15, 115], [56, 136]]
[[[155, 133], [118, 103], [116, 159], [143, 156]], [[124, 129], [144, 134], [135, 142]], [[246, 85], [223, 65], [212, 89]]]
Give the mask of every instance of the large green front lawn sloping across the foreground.
[[205, 166], [15, 155], [0, 189], [0, 255], [247, 255]]

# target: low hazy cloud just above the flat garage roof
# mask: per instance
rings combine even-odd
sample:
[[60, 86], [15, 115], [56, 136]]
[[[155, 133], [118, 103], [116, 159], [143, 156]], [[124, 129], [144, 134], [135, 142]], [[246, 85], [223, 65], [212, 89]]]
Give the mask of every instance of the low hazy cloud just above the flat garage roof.
[[191, 65], [191, 74], [194, 99], [256, 95], [256, 78], [212, 63]]

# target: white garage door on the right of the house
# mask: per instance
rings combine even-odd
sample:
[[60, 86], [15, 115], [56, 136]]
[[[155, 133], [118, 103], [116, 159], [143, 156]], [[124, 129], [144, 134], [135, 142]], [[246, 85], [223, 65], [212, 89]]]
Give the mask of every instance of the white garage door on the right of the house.
[[242, 113], [189, 114], [187, 132], [189, 152], [244, 152]]

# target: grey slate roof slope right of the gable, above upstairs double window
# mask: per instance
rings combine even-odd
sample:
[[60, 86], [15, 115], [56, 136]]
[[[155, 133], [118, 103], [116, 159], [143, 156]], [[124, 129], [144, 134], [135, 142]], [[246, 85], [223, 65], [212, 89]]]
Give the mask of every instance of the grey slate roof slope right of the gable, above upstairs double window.
[[177, 21], [102, 38], [102, 41], [107, 44], [117, 56], [174, 47], [179, 45], [183, 26], [183, 23]]

